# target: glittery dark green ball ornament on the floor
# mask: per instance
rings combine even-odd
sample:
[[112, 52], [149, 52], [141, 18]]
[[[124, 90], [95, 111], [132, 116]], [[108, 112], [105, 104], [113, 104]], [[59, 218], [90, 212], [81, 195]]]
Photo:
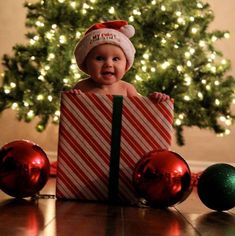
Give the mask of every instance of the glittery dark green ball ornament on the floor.
[[206, 168], [199, 177], [198, 196], [210, 209], [229, 210], [235, 206], [235, 167], [217, 163]]

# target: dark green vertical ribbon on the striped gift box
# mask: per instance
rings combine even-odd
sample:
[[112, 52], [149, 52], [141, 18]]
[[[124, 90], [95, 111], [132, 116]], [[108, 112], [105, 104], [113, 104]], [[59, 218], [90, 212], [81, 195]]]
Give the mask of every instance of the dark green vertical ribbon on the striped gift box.
[[122, 105], [123, 105], [123, 97], [114, 95], [113, 96], [109, 185], [108, 185], [108, 198], [111, 203], [115, 203], [118, 201], [119, 162], [120, 162], [121, 128], [122, 128]]

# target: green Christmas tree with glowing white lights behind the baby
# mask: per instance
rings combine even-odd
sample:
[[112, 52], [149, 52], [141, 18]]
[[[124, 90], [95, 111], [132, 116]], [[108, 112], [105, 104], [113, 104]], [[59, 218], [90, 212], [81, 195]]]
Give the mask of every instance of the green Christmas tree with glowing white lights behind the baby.
[[132, 42], [137, 54], [125, 80], [142, 95], [154, 91], [175, 101], [177, 142], [183, 128], [197, 126], [226, 134], [234, 116], [235, 79], [227, 75], [230, 61], [216, 49], [228, 31], [209, 31], [214, 14], [198, 0], [41, 0], [25, 3], [28, 44], [4, 55], [0, 112], [17, 111], [17, 118], [59, 122], [60, 92], [87, 77], [78, 70], [73, 50], [93, 23], [127, 20], [136, 29]]

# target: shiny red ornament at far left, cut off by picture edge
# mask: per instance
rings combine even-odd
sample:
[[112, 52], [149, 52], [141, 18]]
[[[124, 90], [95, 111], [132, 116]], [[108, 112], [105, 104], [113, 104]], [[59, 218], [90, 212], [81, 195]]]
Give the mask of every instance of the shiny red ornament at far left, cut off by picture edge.
[[24, 198], [37, 194], [47, 183], [50, 163], [41, 147], [16, 140], [0, 149], [0, 189]]

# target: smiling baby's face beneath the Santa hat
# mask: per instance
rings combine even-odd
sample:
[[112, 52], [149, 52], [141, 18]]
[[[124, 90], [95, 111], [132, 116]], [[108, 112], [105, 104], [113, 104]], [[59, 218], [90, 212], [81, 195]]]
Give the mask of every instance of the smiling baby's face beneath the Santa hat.
[[126, 73], [126, 57], [122, 49], [112, 44], [93, 48], [86, 58], [86, 68], [91, 78], [102, 85], [112, 85]]

